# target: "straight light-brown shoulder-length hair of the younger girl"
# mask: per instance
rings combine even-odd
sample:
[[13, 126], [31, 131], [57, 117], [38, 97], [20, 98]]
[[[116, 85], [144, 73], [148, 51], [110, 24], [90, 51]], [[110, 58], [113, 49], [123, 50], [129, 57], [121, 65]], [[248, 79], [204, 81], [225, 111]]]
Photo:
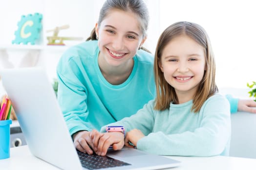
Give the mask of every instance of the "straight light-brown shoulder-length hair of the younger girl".
[[218, 91], [215, 84], [215, 59], [211, 42], [206, 31], [198, 24], [181, 21], [169, 26], [159, 37], [155, 58], [154, 58], [154, 76], [156, 84], [156, 110], [169, 109], [170, 103], [178, 103], [175, 89], [167, 83], [164, 74], [159, 67], [164, 48], [175, 37], [187, 35], [204, 48], [206, 58], [206, 70], [199, 83], [196, 93], [193, 97], [192, 110], [197, 113], [203, 103]]

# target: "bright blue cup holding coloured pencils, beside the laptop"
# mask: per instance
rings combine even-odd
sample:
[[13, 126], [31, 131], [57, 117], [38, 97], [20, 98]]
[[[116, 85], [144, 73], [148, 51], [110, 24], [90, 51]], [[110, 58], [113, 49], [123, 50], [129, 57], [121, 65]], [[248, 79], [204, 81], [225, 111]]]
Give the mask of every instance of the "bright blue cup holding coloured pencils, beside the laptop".
[[0, 159], [10, 157], [10, 124], [12, 120], [0, 120]]

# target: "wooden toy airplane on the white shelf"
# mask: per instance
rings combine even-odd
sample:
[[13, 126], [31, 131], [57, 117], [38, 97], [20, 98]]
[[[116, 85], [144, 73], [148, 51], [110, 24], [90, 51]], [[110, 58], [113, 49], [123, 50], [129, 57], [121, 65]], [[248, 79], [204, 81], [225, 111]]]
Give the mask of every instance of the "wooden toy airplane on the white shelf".
[[67, 37], [67, 36], [58, 36], [59, 31], [63, 29], [68, 29], [69, 25], [63, 25], [61, 27], [56, 27], [52, 30], [47, 30], [46, 32], [53, 32], [53, 36], [47, 36], [48, 44], [47, 45], [65, 45], [64, 40], [82, 40], [82, 37]]

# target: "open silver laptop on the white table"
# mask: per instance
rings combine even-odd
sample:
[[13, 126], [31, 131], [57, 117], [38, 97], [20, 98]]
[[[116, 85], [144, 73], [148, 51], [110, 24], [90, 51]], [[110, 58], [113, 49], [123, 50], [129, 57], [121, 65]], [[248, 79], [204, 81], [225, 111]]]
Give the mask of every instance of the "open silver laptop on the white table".
[[[164, 156], [128, 147], [120, 151], [110, 149], [107, 156], [79, 153], [74, 147], [54, 89], [43, 68], [2, 69], [0, 76], [30, 152], [56, 167], [63, 170], [155, 170], [180, 164]], [[113, 167], [101, 167], [97, 162], [95, 167], [87, 167], [86, 163], [92, 164], [91, 157], [96, 157], [96, 160], [99, 157], [110, 159], [113, 163], [109, 164]], [[115, 161], [121, 164], [116, 166]]]

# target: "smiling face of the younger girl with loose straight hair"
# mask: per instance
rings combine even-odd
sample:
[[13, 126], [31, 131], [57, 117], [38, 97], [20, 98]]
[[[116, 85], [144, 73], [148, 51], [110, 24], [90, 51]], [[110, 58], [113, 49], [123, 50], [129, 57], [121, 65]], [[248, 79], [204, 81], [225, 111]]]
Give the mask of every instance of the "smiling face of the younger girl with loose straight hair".
[[159, 67], [177, 97], [185, 94], [192, 100], [206, 69], [205, 50], [189, 36], [179, 35], [164, 48]]

